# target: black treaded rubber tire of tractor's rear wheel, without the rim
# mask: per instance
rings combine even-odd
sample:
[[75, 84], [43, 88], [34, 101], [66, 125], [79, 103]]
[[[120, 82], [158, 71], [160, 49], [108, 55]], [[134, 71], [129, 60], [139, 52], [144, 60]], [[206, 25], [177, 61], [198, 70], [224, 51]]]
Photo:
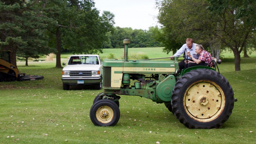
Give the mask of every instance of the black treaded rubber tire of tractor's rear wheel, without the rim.
[[[225, 107], [223, 112], [214, 120], [209, 122], [199, 122], [191, 117], [185, 112], [183, 98], [184, 93], [187, 87], [198, 80], [210, 80], [214, 81], [218, 85], [221, 85], [225, 88], [223, 92], [225, 93]], [[184, 74], [176, 83], [173, 88], [173, 93], [171, 97], [171, 105], [174, 115], [177, 119], [179, 119], [180, 123], [184, 124], [188, 128], [219, 128], [221, 127], [225, 121], [228, 120], [229, 116], [232, 114], [232, 110], [234, 107], [234, 93], [232, 87], [230, 86], [227, 79], [221, 74], [217, 73], [213, 70], [208, 69], [197, 69], [190, 71]]]

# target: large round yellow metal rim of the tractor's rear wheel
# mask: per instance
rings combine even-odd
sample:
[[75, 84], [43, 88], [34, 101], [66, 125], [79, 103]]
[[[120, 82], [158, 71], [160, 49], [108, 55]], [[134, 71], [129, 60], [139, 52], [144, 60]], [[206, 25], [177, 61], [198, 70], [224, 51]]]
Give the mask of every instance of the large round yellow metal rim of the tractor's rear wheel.
[[217, 118], [225, 106], [221, 87], [211, 81], [199, 81], [190, 85], [183, 100], [187, 114], [200, 122]]

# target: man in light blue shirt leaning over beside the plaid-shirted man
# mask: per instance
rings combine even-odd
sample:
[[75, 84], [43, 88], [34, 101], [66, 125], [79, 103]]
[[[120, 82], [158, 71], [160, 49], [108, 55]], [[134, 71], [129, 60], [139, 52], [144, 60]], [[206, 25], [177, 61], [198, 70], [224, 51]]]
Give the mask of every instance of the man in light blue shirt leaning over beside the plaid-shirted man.
[[[191, 38], [186, 39], [186, 44], [184, 44], [173, 56], [170, 57], [170, 59], [173, 59], [174, 56], [179, 57], [181, 54], [184, 53], [183, 57], [185, 56], [185, 52], [189, 52], [193, 55], [195, 59], [199, 57], [199, 55], [196, 55], [195, 48], [196, 45]], [[186, 50], [186, 51], [185, 51]], [[185, 67], [185, 60], [193, 61], [190, 57], [184, 57], [184, 60], [179, 62], [179, 69], [182, 70]]]

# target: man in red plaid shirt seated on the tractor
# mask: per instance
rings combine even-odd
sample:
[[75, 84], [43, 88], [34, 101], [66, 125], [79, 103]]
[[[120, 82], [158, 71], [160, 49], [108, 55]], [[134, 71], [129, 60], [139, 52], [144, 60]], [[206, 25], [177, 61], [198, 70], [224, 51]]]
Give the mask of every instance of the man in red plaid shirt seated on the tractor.
[[[193, 66], [207, 66], [212, 62], [212, 56], [210, 53], [204, 50], [201, 44], [196, 45], [195, 52], [199, 55], [198, 59], [193, 58], [189, 52], [187, 52], [188, 57], [190, 57], [193, 61], [188, 61], [188, 65], [185, 64], [185, 68], [193, 67]], [[186, 63], [187, 61], [185, 61]]]

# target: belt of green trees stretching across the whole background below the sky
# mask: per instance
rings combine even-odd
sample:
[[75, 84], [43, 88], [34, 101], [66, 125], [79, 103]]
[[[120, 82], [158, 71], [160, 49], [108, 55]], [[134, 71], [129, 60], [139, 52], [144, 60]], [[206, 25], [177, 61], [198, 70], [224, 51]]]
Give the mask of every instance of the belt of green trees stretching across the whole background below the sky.
[[156, 0], [161, 26], [148, 30], [114, 27], [114, 14], [100, 15], [93, 0], [0, 0], [0, 49], [28, 59], [60, 53], [97, 54], [102, 48], [164, 47], [175, 53], [186, 38], [209, 48], [219, 58], [224, 48], [234, 54], [255, 51], [256, 1], [254, 0]]

